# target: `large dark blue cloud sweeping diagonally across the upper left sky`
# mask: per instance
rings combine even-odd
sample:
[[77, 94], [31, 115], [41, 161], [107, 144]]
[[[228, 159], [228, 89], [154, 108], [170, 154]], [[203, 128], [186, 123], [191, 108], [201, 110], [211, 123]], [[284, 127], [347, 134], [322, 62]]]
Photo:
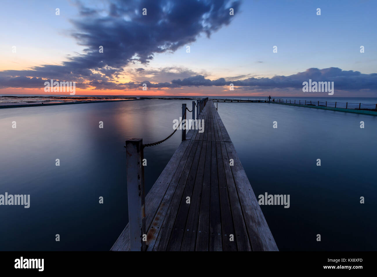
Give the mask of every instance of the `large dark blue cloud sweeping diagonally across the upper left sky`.
[[[147, 64], [155, 53], [176, 51], [195, 41], [201, 33], [209, 37], [230, 23], [234, 16], [229, 15], [229, 8], [237, 10], [239, 4], [239, 1], [225, 0], [112, 0], [106, 10], [97, 10], [77, 2], [81, 16], [71, 21], [77, 30], [72, 36], [85, 47], [85, 54], [68, 57], [61, 66], [5, 70], [0, 72], [0, 87], [6, 87], [6, 83], [16, 86], [13, 85], [15, 77], [22, 76], [31, 78], [23, 79], [19, 87], [34, 87], [33, 77], [65, 81], [85, 79], [89, 81], [87, 84], [93, 85], [112, 81], [129, 63]], [[147, 15], [142, 15], [143, 8], [147, 9]], [[99, 53], [100, 46], [103, 53]], [[92, 70], [101, 72], [104, 77]]]

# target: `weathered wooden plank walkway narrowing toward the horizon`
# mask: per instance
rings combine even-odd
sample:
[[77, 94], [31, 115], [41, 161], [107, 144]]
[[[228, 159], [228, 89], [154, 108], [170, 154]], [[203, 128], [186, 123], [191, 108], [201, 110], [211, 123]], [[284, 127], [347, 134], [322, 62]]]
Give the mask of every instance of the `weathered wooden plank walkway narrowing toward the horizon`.
[[[145, 197], [146, 251], [278, 251], [211, 100], [198, 118], [204, 132], [187, 132]], [[111, 251], [129, 251], [129, 234]]]

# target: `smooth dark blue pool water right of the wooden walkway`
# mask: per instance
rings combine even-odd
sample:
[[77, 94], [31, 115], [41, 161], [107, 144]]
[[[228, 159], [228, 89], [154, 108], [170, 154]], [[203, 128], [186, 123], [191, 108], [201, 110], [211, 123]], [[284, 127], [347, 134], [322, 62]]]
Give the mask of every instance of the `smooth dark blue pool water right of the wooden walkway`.
[[377, 250], [377, 116], [268, 103], [218, 112], [256, 196], [290, 194], [290, 208], [261, 206], [280, 250]]

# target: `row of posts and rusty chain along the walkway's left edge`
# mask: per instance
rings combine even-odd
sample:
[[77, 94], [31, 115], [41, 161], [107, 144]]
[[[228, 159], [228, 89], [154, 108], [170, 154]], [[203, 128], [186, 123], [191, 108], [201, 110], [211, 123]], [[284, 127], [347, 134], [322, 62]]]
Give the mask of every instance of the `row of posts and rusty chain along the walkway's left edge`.
[[[143, 144], [142, 138], [130, 138], [126, 140], [126, 174], [127, 174], [127, 193], [128, 193], [128, 217], [130, 230], [130, 250], [146, 251], [146, 219], [145, 219], [145, 190], [144, 190], [144, 148], [160, 144], [171, 138], [179, 129], [182, 121], [186, 118], [186, 112], [192, 112], [195, 119], [195, 106], [202, 110], [208, 101], [203, 98], [192, 101], [192, 110], [187, 109], [186, 104], [182, 104], [182, 119], [178, 127], [167, 138], [161, 141]], [[199, 114], [197, 113], [198, 117]], [[182, 141], [186, 139], [186, 130], [182, 128]]]

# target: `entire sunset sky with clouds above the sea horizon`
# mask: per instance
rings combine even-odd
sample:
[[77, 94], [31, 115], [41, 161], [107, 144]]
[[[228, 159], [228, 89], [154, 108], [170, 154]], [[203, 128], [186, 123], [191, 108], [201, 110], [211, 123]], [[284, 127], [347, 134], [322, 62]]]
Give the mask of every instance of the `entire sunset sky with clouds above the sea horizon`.
[[3, 95], [53, 94], [44, 92], [53, 79], [76, 82], [77, 95], [328, 96], [303, 92], [311, 79], [333, 81], [334, 97], [377, 97], [376, 1], [1, 6]]

